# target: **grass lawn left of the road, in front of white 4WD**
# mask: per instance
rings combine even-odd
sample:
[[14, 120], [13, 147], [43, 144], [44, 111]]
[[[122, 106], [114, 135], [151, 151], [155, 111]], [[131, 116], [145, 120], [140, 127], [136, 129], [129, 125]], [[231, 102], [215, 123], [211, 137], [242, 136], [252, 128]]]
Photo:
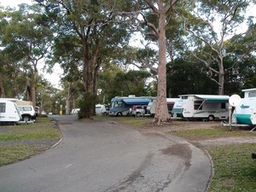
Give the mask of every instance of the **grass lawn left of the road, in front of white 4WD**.
[[0, 127], [0, 166], [42, 153], [61, 138], [61, 131], [49, 118], [28, 125]]

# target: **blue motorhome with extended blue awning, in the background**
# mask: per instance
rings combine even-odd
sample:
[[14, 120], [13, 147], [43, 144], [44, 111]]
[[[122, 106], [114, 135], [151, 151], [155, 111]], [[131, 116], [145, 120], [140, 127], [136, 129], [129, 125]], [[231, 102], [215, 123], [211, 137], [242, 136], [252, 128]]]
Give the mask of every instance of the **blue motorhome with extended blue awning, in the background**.
[[147, 96], [116, 96], [111, 100], [109, 115], [130, 115], [133, 106], [148, 105], [150, 99]]

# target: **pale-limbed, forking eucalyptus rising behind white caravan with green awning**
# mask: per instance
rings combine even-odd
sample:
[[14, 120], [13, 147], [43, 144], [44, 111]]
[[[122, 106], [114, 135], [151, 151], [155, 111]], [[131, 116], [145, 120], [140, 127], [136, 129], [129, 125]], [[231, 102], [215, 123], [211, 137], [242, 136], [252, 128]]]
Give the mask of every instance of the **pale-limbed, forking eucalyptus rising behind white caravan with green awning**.
[[[247, 7], [254, 0], [198, 0], [191, 6], [190, 14], [183, 15], [184, 27], [189, 32], [189, 49], [198, 61], [208, 68], [210, 79], [218, 84], [218, 95], [224, 95], [224, 58], [234, 54], [236, 48], [227, 49], [229, 38], [241, 29]], [[205, 49], [204, 52], [196, 52]], [[218, 65], [218, 68], [212, 65]]]

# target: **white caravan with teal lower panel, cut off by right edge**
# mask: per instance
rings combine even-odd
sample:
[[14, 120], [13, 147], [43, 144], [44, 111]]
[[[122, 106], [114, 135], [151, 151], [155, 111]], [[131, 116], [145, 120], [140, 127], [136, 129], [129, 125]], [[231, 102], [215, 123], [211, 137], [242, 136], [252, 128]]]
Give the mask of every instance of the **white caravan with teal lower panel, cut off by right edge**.
[[256, 125], [256, 88], [241, 91], [244, 92], [244, 98], [233, 113], [236, 124]]

